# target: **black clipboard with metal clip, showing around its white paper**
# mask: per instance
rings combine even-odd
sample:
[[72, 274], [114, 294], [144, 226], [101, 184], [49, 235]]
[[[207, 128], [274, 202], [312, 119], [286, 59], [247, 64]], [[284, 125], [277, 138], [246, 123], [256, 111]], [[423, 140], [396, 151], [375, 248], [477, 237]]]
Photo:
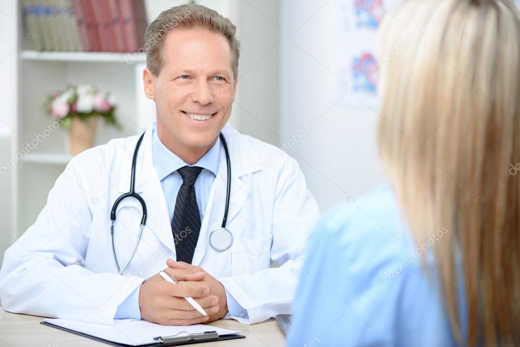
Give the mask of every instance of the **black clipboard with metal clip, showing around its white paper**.
[[[96, 336], [88, 335], [83, 332], [71, 330], [68, 328], [60, 327], [58, 325], [54, 325], [52, 323], [48, 322], [40, 322], [40, 324], [53, 327], [56, 329], [60, 329], [67, 332], [72, 332], [76, 335], [80, 335], [92, 340], [96, 340], [99, 342], [107, 343], [112, 346], [118, 346], [118, 347], [136, 347], [131, 344], [124, 344], [124, 343], [118, 343], [113, 342], [105, 339], [98, 338]], [[224, 340], [235, 340], [235, 339], [243, 339], [245, 336], [239, 335], [239, 334], [232, 334], [232, 335], [218, 335], [215, 331], [210, 332], [203, 332], [203, 333], [197, 333], [197, 334], [190, 334], [183, 337], [174, 337], [174, 336], [164, 336], [164, 337], [155, 337], [154, 340], [158, 340], [157, 343], [148, 343], [148, 344], [140, 344], [137, 347], [166, 347], [166, 346], [180, 346], [185, 344], [193, 344], [193, 343], [202, 343], [202, 342], [212, 342], [212, 341], [224, 341]], [[162, 341], [162, 342], [161, 342]]]

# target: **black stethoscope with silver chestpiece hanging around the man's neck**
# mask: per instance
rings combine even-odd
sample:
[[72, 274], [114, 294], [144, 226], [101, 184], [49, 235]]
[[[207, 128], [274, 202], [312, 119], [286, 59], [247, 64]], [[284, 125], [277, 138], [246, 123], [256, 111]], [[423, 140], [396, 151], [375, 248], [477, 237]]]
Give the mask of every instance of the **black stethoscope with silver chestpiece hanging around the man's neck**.
[[[125, 271], [126, 267], [132, 260], [137, 250], [137, 246], [139, 245], [139, 241], [141, 239], [142, 229], [146, 225], [146, 217], [147, 217], [147, 209], [146, 203], [144, 199], [135, 192], [135, 167], [137, 162], [137, 153], [139, 152], [139, 147], [141, 146], [142, 139], [145, 137], [146, 133], [143, 133], [139, 140], [137, 140], [137, 144], [134, 150], [134, 156], [132, 158], [132, 171], [130, 178], [130, 191], [128, 193], [124, 193], [120, 197], [118, 197], [114, 205], [112, 206], [112, 210], [110, 211], [110, 220], [112, 221], [112, 225], [110, 226], [110, 234], [112, 235], [112, 250], [114, 252], [115, 265], [118, 267], [119, 274], [121, 275], [123, 271]], [[217, 252], [224, 252], [231, 247], [233, 244], [233, 235], [231, 232], [226, 229], [226, 222], [229, 210], [229, 195], [231, 191], [231, 161], [229, 159], [229, 152], [226, 144], [226, 140], [224, 139], [224, 135], [220, 133], [219, 135], [220, 141], [222, 141], [222, 145], [224, 146], [224, 152], [226, 152], [226, 164], [227, 164], [227, 186], [226, 186], [226, 208], [224, 210], [224, 217], [222, 218], [222, 226], [213, 230], [210, 234], [210, 246]], [[115, 254], [115, 245], [114, 245], [114, 224], [115, 224], [115, 210], [118, 208], [118, 205], [127, 197], [133, 197], [137, 199], [137, 201], [141, 204], [142, 208], [142, 217], [141, 217], [141, 225], [139, 226], [139, 234], [137, 235], [137, 241], [134, 245], [134, 249], [128, 260], [123, 266], [123, 269], [119, 268], [118, 256]]]

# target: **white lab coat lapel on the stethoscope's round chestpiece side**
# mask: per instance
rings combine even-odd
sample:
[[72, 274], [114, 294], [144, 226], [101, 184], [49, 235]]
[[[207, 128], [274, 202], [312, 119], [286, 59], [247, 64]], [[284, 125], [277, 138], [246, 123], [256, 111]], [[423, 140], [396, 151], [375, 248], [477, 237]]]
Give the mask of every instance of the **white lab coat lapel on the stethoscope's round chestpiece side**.
[[[231, 193], [229, 197], [229, 211], [226, 225], [234, 218], [248, 201], [250, 194], [250, 176], [255, 172], [255, 160], [257, 158], [251, 145], [246, 142], [239, 132], [229, 125], [222, 130], [226, 139], [229, 158], [231, 161]], [[197, 248], [193, 254], [192, 264], [199, 265], [209, 247], [210, 234], [213, 230], [222, 227], [222, 219], [226, 206], [227, 166], [226, 153], [223, 146], [220, 148], [220, 161], [218, 173], [213, 181], [210, 196], [208, 198]], [[231, 231], [232, 233], [232, 231]]]

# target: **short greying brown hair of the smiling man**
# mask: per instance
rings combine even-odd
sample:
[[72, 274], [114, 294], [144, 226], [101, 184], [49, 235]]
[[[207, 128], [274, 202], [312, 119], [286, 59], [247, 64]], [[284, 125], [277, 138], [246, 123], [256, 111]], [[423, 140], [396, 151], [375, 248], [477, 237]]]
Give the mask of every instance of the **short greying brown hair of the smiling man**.
[[224, 35], [233, 55], [231, 61], [233, 76], [237, 78], [240, 57], [240, 42], [236, 37], [237, 27], [229, 18], [198, 4], [186, 4], [164, 10], [148, 26], [145, 34], [146, 65], [153, 75], [158, 76], [161, 72], [164, 40], [168, 33], [175, 29], [205, 29]]

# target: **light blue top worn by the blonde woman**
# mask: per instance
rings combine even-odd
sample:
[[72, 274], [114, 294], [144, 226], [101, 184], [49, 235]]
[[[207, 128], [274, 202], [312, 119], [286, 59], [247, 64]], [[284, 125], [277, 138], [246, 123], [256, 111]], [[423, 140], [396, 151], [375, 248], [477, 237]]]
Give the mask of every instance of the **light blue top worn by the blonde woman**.
[[[306, 248], [287, 345], [454, 345], [428, 246], [447, 242], [445, 231], [413, 241], [388, 185], [332, 208]], [[463, 300], [460, 281], [458, 288]]]

